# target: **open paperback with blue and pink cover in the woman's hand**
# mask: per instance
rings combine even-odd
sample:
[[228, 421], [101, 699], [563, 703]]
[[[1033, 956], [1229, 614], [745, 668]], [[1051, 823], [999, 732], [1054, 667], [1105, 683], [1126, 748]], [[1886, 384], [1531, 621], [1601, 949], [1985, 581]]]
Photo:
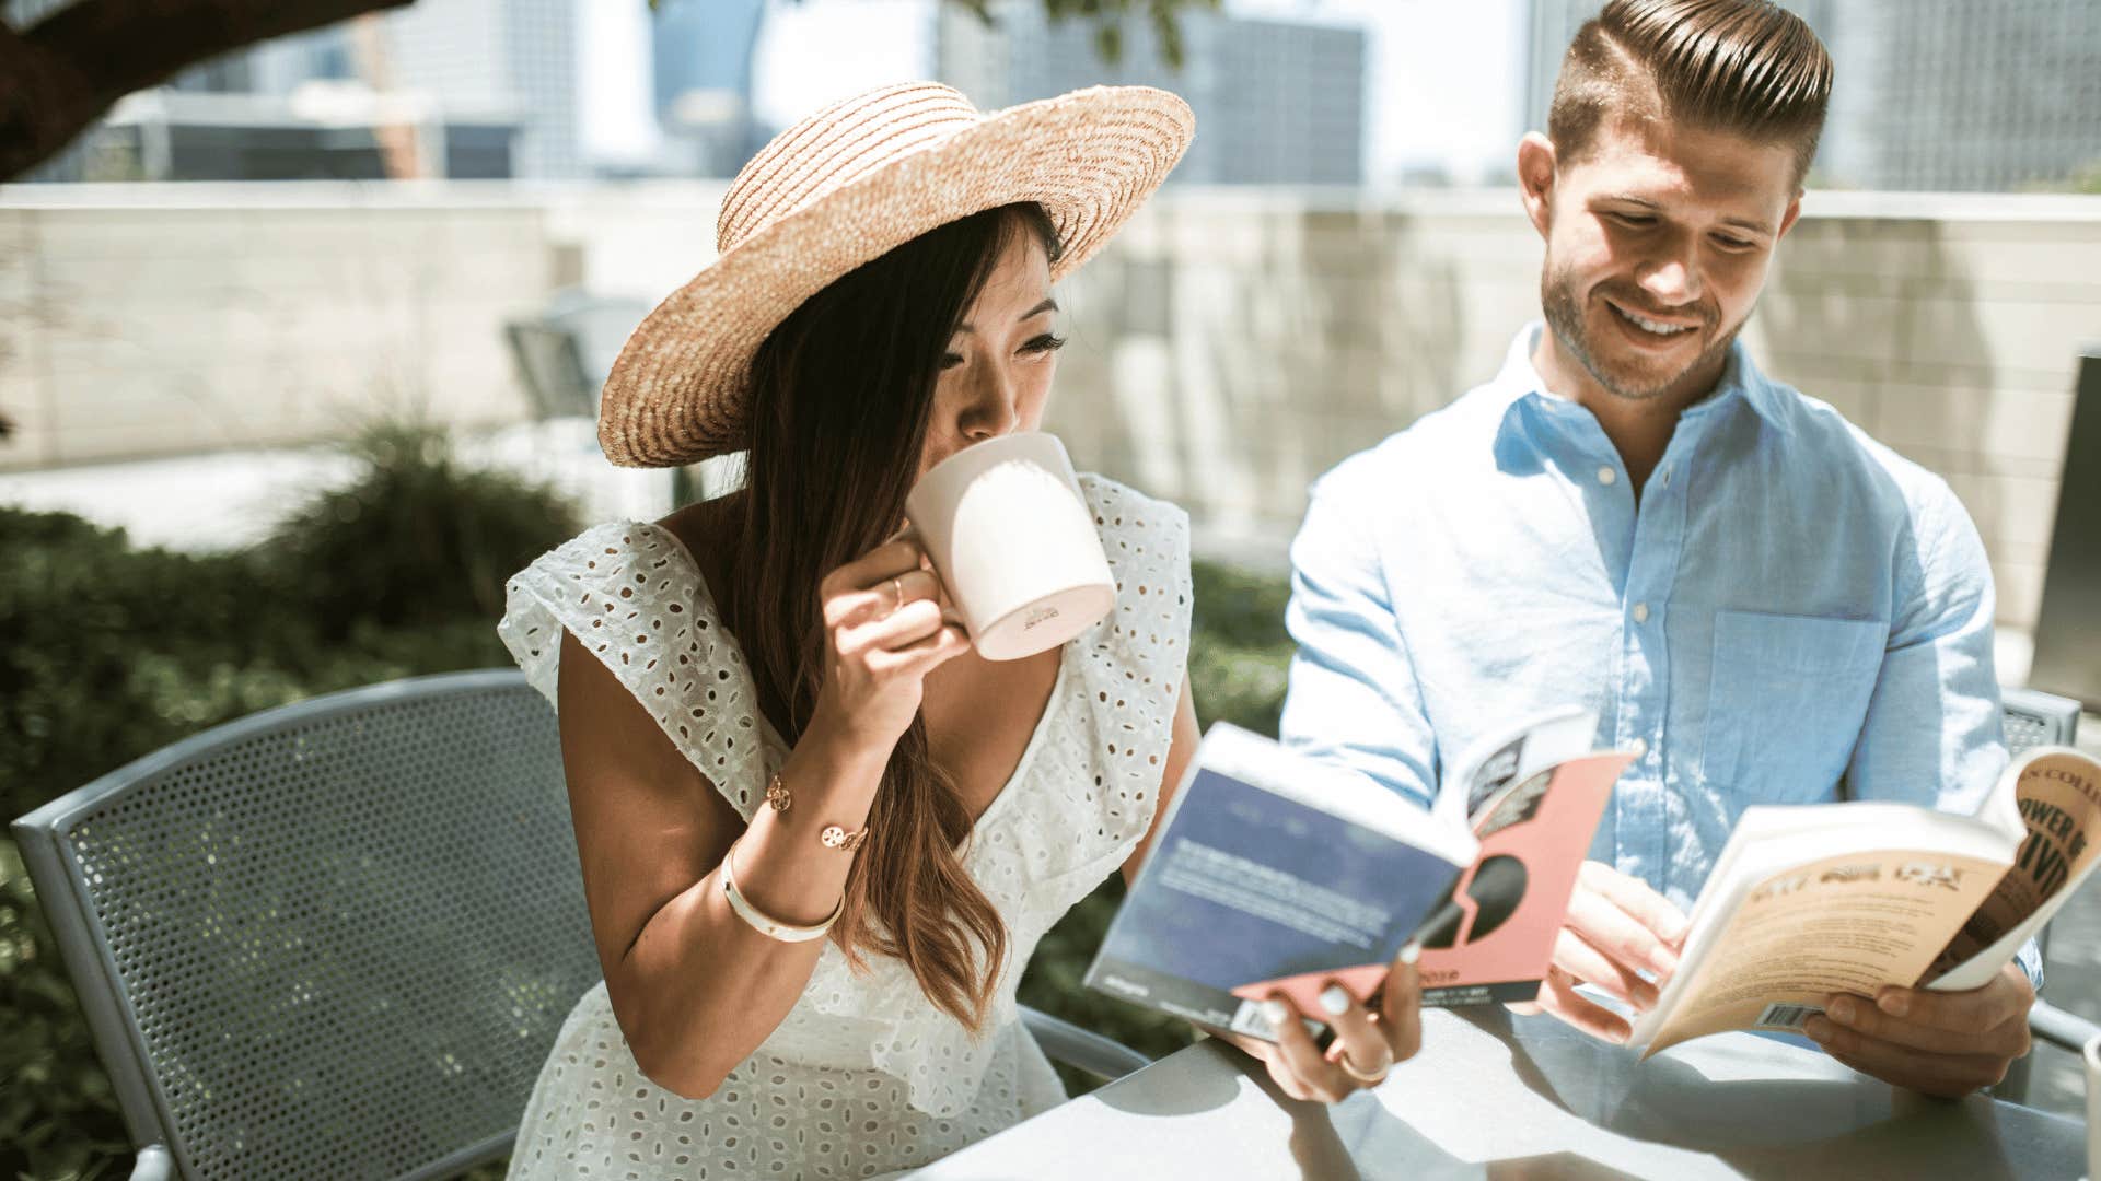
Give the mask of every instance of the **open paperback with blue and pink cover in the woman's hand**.
[[1588, 752], [1593, 733], [1595, 717], [1578, 712], [1513, 731], [1464, 765], [1445, 792], [1456, 805], [1424, 811], [1357, 771], [1214, 725], [1086, 983], [1269, 1038], [1263, 998], [1319, 1013], [1330, 981], [1372, 996], [1401, 946], [1422, 939], [1427, 1002], [1530, 998], [1630, 759]]

